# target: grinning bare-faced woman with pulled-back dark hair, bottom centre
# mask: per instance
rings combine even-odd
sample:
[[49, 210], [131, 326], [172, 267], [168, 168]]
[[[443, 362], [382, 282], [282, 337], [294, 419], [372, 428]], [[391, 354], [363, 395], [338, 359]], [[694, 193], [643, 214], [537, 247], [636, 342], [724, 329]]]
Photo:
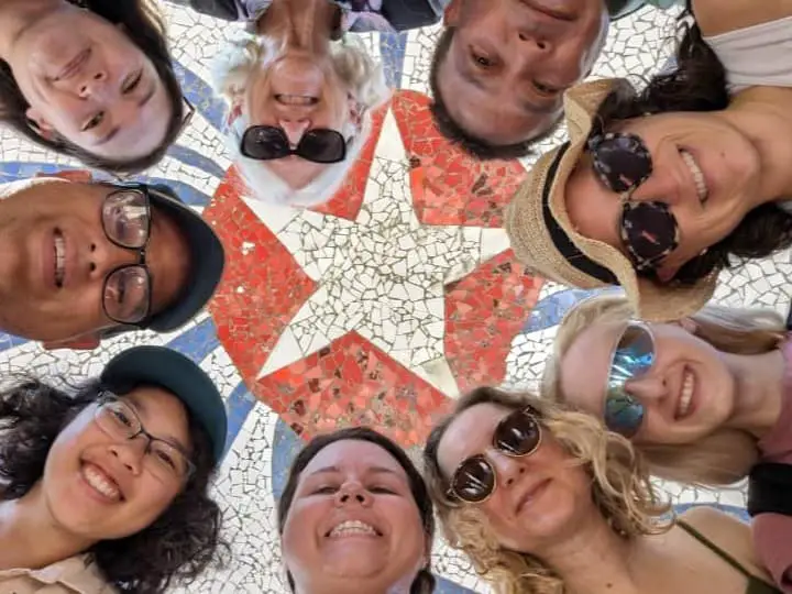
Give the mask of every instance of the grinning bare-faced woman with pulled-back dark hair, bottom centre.
[[294, 594], [431, 594], [435, 517], [424, 479], [383, 435], [353, 427], [297, 454], [280, 501]]

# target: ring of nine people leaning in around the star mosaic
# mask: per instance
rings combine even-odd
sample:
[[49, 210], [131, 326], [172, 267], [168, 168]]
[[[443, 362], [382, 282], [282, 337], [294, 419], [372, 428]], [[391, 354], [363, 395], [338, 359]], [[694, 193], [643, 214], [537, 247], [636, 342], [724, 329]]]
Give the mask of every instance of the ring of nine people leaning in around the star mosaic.
[[[443, 134], [490, 158], [569, 129], [507, 209], [515, 253], [625, 292], [566, 315], [538, 394], [458, 400], [422, 464], [374, 429], [310, 441], [277, 509], [293, 592], [428, 594], [438, 521], [507, 594], [792, 593], [790, 322], [707, 304], [721, 270], [792, 243], [790, 0], [688, 2], [675, 66], [640, 88], [581, 79], [644, 1], [176, 3], [249, 24], [217, 68], [229, 139], [251, 191], [296, 206], [329, 198], [387, 98], [351, 34], [442, 16]], [[190, 111], [155, 4], [0, 1], [0, 117], [20, 134], [130, 173]], [[176, 330], [222, 276], [216, 233], [166, 186], [65, 175], [0, 198], [0, 329], [45, 348]], [[3, 382], [0, 592], [161, 593], [223, 559], [227, 413], [196, 363], [138, 346], [85, 382]], [[653, 476], [748, 479], [751, 524], [674, 515]]]

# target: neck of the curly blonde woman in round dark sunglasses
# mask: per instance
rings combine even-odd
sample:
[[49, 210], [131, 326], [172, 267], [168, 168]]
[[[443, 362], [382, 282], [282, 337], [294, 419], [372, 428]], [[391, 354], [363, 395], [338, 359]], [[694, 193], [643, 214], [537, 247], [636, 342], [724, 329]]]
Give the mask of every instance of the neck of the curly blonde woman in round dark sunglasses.
[[544, 549], [542, 560], [563, 580], [566, 594], [637, 592], [630, 561], [635, 540], [614, 532], [600, 513], [569, 538]]

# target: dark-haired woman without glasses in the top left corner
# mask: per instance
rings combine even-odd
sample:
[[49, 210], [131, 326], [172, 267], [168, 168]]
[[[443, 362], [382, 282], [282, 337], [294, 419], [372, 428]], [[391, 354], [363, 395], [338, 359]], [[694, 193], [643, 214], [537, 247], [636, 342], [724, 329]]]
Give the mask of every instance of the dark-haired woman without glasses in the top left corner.
[[86, 165], [155, 165], [188, 114], [153, 0], [0, 2], [0, 122]]

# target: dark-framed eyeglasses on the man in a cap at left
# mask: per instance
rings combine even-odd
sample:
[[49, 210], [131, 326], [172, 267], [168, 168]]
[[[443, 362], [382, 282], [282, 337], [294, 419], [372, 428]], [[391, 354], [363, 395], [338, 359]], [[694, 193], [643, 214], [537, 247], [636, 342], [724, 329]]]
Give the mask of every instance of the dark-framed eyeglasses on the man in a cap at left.
[[138, 264], [119, 266], [105, 278], [102, 308], [118, 323], [140, 324], [152, 305], [152, 279], [145, 263], [151, 231], [151, 206], [143, 188], [122, 188], [110, 193], [101, 207], [107, 239], [125, 250], [136, 251]]

